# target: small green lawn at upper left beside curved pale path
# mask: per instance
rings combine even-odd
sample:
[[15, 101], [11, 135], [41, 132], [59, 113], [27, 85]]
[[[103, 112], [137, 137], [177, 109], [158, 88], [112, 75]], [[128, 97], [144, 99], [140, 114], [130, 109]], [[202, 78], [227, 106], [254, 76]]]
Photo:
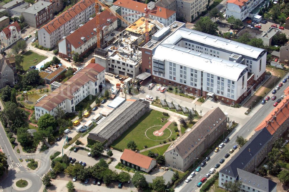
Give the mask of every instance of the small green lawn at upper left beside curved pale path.
[[[23, 60], [22, 67], [24, 71], [27, 71], [30, 66], [37, 65], [41, 61], [45, 60], [47, 57], [43, 55], [38, 55], [37, 53], [33, 51], [27, 51], [23, 55], [21, 55], [21, 58]], [[37, 59], [37, 61], [36, 61]], [[35, 60], [35, 61], [34, 61]]]

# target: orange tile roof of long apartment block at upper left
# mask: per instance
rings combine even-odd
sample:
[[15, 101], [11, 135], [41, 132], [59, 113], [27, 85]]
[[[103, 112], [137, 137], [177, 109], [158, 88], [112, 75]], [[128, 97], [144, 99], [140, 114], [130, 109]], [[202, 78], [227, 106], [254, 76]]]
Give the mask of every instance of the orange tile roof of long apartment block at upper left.
[[[93, 0], [79, 1], [72, 8], [69, 8], [60, 16], [56, 17], [55, 19], [53, 19], [52, 21], [50, 21], [49, 23], [47, 23], [41, 28], [44, 28], [49, 34], [51, 34], [53, 31], [61, 27], [64, 23], [67, 23], [77, 14], [85, 10], [88, 6], [92, 5], [94, 2], [95, 1]], [[92, 7], [92, 9], [94, 9], [94, 7]]]

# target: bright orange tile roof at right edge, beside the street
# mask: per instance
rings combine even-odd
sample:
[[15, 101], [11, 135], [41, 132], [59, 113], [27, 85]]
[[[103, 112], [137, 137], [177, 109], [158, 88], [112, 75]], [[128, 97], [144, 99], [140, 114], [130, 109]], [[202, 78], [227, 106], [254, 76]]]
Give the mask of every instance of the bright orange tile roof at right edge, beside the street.
[[271, 135], [289, 118], [289, 95], [274, 108], [271, 113], [257, 126], [255, 131], [266, 128]]

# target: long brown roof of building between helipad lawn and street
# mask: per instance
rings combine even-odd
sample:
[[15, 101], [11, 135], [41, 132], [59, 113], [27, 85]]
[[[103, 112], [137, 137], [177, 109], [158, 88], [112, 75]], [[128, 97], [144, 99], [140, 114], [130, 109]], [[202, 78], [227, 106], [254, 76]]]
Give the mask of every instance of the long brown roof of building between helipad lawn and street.
[[183, 159], [186, 158], [198, 146], [198, 143], [214, 131], [226, 118], [226, 115], [218, 107], [208, 111], [192, 126], [190, 131], [183, 134], [166, 152], [177, 149], [179, 155]]

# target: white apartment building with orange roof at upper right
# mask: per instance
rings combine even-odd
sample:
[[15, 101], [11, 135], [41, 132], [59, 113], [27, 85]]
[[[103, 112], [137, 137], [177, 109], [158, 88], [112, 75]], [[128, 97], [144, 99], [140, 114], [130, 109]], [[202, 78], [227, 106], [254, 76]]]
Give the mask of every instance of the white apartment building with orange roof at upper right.
[[[234, 16], [237, 19], [243, 21], [248, 16], [252, 17], [258, 14], [257, 12], [251, 13], [257, 8], [264, 0], [227, 0], [226, 3], [226, 19]], [[269, 1], [266, 1], [267, 6]], [[265, 6], [263, 3], [262, 6]]]

